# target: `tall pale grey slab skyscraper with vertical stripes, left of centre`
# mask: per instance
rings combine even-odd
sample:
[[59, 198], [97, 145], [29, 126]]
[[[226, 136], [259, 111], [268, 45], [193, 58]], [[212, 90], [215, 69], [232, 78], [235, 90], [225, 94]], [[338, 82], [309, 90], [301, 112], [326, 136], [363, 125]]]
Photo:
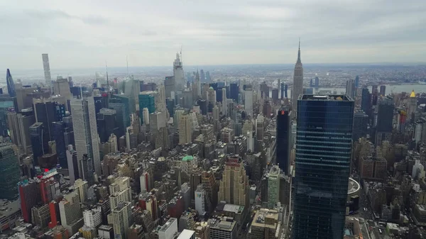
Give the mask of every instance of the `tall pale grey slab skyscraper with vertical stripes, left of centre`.
[[[94, 172], [101, 175], [101, 160], [99, 156], [99, 140], [97, 134], [96, 113], [93, 97], [71, 100], [72, 125], [74, 126], [75, 149], [77, 160], [84, 154], [92, 158]], [[79, 165], [79, 174], [82, 169]]]

